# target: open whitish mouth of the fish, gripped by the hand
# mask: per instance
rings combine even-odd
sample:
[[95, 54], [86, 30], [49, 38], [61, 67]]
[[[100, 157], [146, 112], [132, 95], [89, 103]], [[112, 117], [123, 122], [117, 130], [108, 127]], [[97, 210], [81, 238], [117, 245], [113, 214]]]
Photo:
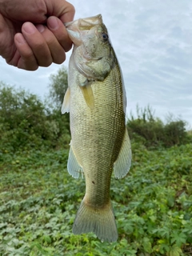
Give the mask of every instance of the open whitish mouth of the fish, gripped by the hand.
[[82, 45], [82, 30], [90, 30], [93, 26], [102, 24], [102, 14], [98, 14], [89, 18], [79, 18], [73, 22], [66, 22], [66, 30], [69, 37], [76, 46]]

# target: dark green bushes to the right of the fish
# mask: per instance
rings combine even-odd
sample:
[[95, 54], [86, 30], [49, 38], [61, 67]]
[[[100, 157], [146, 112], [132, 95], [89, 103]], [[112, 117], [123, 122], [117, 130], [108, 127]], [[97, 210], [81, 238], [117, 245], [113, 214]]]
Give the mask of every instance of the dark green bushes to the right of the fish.
[[186, 122], [181, 119], [168, 118], [166, 124], [154, 117], [154, 111], [147, 106], [142, 110], [137, 106], [137, 118], [130, 114], [127, 122], [130, 138], [142, 141], [147, 147], [174, 146], [192, 142], [186, 132]]

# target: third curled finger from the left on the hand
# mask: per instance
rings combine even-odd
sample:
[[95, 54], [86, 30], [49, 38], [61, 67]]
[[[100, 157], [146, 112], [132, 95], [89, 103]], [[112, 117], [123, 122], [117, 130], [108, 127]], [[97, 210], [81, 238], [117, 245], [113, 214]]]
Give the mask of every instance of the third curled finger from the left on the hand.
[[49, 47], [50, 54], [52, 56], [53, 62], [57, 64], [62, 64], [66, 60], [66, 53], [54, 34], [46, 27], [37, 25], [36, 28], [40, 33], [42, 33], [43, 38], [46, 40], [46, 44]]

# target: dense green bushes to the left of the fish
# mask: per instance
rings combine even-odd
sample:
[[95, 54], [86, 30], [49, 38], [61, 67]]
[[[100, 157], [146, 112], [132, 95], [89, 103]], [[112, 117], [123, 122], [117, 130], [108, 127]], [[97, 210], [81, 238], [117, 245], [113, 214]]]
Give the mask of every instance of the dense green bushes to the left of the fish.
[[50, 113], [37, 95], [0, 84], [0, 150], [55, 147], [63, 134], [70, 141], [69, 118]]

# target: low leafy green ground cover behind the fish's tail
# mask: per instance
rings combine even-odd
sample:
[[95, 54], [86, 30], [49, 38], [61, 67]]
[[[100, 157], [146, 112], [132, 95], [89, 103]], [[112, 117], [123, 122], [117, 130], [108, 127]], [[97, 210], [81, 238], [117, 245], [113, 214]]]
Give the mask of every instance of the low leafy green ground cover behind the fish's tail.
[[0, 155], [0, 255], [192, 255], [192, 145], [146, 150], [111, 181], [118, 242], [72, 234], [85, 181], [66, 170], [68, 150]]

